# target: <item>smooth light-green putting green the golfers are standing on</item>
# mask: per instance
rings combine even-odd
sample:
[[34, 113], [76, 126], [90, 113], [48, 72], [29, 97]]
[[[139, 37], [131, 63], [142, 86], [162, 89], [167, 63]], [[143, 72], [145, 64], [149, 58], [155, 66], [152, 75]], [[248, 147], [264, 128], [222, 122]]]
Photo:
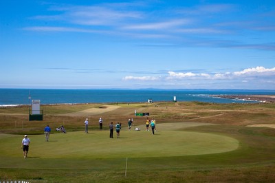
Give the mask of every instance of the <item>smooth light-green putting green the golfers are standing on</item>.
[[[197, 126], [195, 122], [166, 123], [157, 125], [157, 132], [129, 131], [122, 129], [120, 138], [109, 138], [109, 131], [84, 131], [71, 133], [53, 133], [50, 142], [45, 142], [41, 135], [29, 136], [31, 140], [28, 160], [37, 162], [36, 168], [43, 168], [40, 160], [70, 159], [110, 159], [110, 158], [150, 158], [179, 155], [202, 155], [234, 151], [239, 146], [238, 140], [212, 133], [182, 131], [185, 127]], [[200, 125], [203, 125], [200, 123]], [[22, 136], [0, 135], [1, 167], [24, 166], [20, 143]], [[8, 161], [12, 160], [13, 165]], [[23, 163], [23, 164], [21, 164]], [[21, 164], [21, 165], [20, 165]], [[52, 164], [56, 168], [58, 164]], [[77, 166], [77, 165], [76, 165]], [[49, 168], [49, 164], [47, 164]], [[64, 168], [64, 167], [63, 167]]]

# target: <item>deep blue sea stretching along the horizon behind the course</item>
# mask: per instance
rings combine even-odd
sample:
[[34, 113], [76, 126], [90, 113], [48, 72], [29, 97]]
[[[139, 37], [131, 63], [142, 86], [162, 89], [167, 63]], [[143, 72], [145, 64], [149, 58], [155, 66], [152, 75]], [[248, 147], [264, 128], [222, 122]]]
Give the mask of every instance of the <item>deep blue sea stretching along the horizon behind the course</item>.
[[259, 103], [212, 95], [275, 95], [274, 90], [236, 89], [0, 89], [0, 107], [30, 105], [40, 100], [41, 105], [79, 103], [146, 103], [160, 101], [198, 101], [206, 103]]

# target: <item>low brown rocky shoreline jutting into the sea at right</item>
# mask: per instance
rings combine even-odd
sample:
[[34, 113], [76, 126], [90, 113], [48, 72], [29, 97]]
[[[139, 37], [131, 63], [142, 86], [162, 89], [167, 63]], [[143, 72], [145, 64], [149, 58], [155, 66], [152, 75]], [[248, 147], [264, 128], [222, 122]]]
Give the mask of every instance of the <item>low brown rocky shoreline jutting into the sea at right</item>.
[[274, 95], [210, 95], [211, 97], [230, 98], [233, 100], [255, 100], [261, 103], [275, 103]]

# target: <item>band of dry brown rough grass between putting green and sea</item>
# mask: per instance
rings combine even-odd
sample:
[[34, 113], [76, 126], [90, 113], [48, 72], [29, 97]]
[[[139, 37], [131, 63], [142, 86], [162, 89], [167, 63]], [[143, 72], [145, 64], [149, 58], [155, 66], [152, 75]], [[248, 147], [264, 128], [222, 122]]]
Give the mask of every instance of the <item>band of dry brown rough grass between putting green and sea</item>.
[[135, 125], [144, 125], [147, 116], [134, 116], [148, 112], [148, 118], [162, 122], [206, 122], [221, 125], [247, 126], [274, 124], [275, 104], [213, 104], [213, 103], [118, 103], [83, 105], [44, 105], [42, 122], [28, 121], [28, 106], [0, 109], [2, 133], [23, 133], [32, 129], [41, 130], [45, 125], [58, 127], [65, 125], [69, 131], [83, 130], [85, 118], [89, 118], [91, 128], [98, 129], [98, 119], [103, 118], [103, 126], [110, 122], [127, 125], [133, 118]]

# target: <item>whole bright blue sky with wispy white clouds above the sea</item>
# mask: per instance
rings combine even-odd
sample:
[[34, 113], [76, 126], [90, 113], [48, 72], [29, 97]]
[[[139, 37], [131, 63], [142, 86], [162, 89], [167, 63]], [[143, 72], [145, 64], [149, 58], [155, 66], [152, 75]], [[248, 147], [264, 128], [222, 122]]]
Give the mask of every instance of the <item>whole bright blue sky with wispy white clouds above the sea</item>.
[[1, 1], [0, 88], [275, 89], [275, 1]]

